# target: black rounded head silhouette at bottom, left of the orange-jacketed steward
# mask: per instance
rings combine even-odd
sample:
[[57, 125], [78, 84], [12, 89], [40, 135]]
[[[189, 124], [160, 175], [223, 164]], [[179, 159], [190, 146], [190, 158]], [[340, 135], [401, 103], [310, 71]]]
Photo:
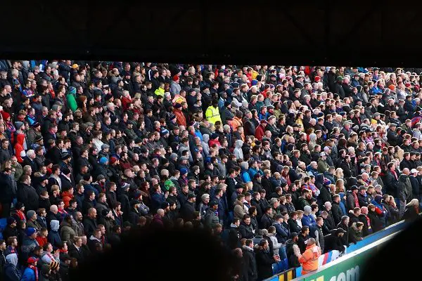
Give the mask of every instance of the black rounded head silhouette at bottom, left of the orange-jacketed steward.
[[148, 228], [132, 230], [119, 247], [81, 263], [70, 280], [231, 280], [234, 264], [205, 231]]

